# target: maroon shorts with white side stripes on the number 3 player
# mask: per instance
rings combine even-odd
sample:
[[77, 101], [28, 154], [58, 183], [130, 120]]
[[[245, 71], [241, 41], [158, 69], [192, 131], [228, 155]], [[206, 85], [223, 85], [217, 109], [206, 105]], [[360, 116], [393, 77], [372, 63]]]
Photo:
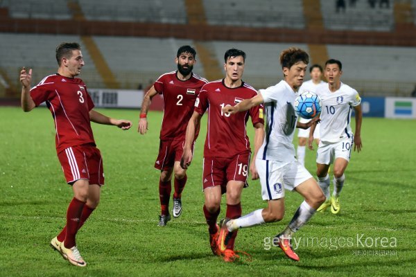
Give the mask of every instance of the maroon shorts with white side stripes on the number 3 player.
[[76, 145], [58, 154], [68, 184], [86, 179], [89, 184], [104, 184], [103, 159], [94, 145]]

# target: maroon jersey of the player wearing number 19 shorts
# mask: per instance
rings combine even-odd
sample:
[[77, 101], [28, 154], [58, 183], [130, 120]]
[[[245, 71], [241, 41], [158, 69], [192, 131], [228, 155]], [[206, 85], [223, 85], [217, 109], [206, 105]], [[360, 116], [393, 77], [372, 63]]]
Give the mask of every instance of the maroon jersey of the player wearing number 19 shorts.
[[202, 115], [208, 109], [204, 157], [234, 157], [250, 152], [245, 126], [248, 116], [251, 117], [253, 126], [257, 123], [264, 124], [262, 106], [233, 115], [224, 113], [221, 109], [254, 96], [257, 96], [257, 91], [244, 82], [233, 89], [225, 87], [224, 80], [209, 82], [202, 87], [195, 103], [195, 111]]

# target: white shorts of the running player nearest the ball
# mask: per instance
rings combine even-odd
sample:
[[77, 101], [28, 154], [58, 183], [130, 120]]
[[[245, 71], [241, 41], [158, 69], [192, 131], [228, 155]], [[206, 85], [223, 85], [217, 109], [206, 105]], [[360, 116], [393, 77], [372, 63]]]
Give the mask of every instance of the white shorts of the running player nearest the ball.
[[284, 190], [294, 190], [307, 179], [311, 173], [299, 162], [283, 163], [256, 159], [256, 168], [261, 183], [261, 197], [263, 200], [284, 197]]

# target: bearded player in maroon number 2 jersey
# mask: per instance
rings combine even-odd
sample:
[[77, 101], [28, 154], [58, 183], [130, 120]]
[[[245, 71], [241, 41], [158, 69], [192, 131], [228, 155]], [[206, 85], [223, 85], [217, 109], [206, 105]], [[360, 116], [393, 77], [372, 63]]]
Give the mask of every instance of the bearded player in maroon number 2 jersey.
[[157, 93], [163, 95], [164, 115], [160, 129], [159, 155], [155, 168], [160, 170], [159, 199], [162, 209], [158, 226], [166, 226], [171, 220], [169, 199], [171, 198], [172, 173], [175, 175], [173, 193], [173, 217], [182, 213], [182, 191], [187, 183], [187, 170], [180, 167], [187, 123], [193, 112], [193, 105], [200, 89], [207, 80], [192, 72], [196, 51], [191, 46], [181, 46], [177, 50], [175, 62], [177, 71], [160, 76], [144, 96], [139, 120], [140, 134], [146, 134], [146, 119], [150, 102]]

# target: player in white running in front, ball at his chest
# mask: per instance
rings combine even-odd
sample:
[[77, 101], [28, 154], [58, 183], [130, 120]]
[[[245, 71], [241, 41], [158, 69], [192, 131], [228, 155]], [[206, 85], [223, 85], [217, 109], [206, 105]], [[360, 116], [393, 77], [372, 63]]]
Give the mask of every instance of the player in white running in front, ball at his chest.
[[223, 220], [218, 247], [227, 244], [232, 233], [239, 228], [265, 222], [277, 222], [284, 216], [284, 189], [296, 190], [304, 197], [295, 215], [283, 232], [273, 240], [286, 256], [299, 260], [291, 247], [291, 236], [313, 216], [324, 202], [324, 194], [312, 175], [295, 158], [293, 136], [295, 127], [303, 129], [314, 125], [318, 118], [309, 123], [297, 122], [293, 108], [297, 89], [302, 85], [309, 55], [299, 48], [288, 48], [280, 54], [284, 80], [261, 89], [257, 96], [243, 100], [234, 107], [226, 106], [223, 111], [235, 114], [265, 103], [266, 137], [256, 157], [256, 169], [261, 182], [261, 195], [268, 201], [268, 207], [254, 211], [235, 220]]

